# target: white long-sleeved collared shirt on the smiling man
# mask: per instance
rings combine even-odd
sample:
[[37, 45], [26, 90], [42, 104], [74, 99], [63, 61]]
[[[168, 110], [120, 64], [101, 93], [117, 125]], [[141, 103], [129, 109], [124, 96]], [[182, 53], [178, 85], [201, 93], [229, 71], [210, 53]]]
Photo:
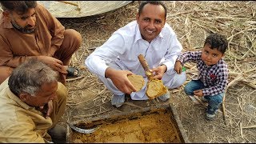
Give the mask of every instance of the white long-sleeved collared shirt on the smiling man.
[[86, 66], [90, 72], [105, 77], [108, 63], [117, 62], [126, 70], [146, 77], [138, 55], [146, 58], [150, 69], [165, 64], [168, 70], [174, 69], [182, 45], [174, 30], [166, 23], [162, 31], [151, 42], [142, 39], [137, 21], [123, 26], [100, 47], [86, 58]]

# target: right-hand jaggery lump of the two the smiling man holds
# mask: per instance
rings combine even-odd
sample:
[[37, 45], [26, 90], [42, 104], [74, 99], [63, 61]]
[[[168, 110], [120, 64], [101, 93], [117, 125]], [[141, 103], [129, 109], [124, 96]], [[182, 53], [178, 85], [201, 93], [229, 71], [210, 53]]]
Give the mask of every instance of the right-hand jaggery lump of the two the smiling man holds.
[[150, 99], [157, 98], [162, 94], [166, 94], [167, 88], [163, 85], [162, 80], [150, 79], [146, 86], [146, 95]]

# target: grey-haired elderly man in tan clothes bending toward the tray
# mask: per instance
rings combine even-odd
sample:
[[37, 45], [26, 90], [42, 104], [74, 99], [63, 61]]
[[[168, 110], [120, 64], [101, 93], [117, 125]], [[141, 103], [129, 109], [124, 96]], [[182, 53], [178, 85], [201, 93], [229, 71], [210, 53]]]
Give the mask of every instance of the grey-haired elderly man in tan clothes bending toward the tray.
[[66, 142], [57, 125], [66, 96], [58, 72], [36, 59], [23, 62], [0, 85], [0, 142]]

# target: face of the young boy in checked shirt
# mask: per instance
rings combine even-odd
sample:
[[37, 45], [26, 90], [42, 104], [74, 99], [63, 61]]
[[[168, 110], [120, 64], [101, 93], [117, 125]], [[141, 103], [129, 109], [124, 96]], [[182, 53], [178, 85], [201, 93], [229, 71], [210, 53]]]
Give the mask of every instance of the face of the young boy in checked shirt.
[[206, 46], [202, 48], [202, 61], [205, 62], [207, 66], [215, 65], [223, 57], [224, 54], [222, 54], [222, 52], [218, 51], [216, 48], [211, 49], [209, 44], [206, 44]]

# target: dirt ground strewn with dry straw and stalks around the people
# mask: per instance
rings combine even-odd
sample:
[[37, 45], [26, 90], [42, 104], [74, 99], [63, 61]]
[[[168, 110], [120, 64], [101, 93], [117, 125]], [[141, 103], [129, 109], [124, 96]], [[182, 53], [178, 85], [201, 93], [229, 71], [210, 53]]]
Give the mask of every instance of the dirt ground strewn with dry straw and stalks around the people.
[[[166, 22], [173, 27], [183, 51], [199, 50], [212, 32], [225, 34], [230, 42], [225, 61], [229, 65], [229, 86], [226, 90], [224, 114], [206, 121], [206, 106], [195, 105], [184, 93], [184, 86], [169, 90], [170, 100], [126, 102], [120, 108], [110, 104], [111, 93], [84, 66], [86, 57], [101, 46], [118, 28], [135, 20], [138, 1], [122, 8], [86, 18], [58, 18], [63, 26], [82, 34], [82, 47], [72, 65], [82, 69], [81, 77], [69, 78], [66, 114], [61, 123], [86, 120], [105, 114], [116, 114], [144, 107], [171, 103], [178, 111], [190, 142], [256, 142], [256, 3], [255, 2], [185, 2], [166, 1]], [[197, 74], [193, 63], [186, 65], [187, 82]], [[225, 120], [224, 120], [225, 119]]]

